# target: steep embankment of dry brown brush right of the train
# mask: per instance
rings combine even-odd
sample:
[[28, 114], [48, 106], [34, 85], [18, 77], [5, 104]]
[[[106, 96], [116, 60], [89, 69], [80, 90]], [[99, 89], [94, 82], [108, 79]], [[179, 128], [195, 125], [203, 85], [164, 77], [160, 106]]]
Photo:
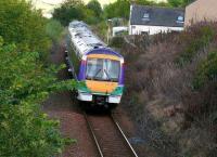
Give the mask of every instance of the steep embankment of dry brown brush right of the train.
[[122, 107], [144, 141], [136, 145], [156, 157], [216, 156], [217, 24], [128, 39], [119, 47], [126, 60]]

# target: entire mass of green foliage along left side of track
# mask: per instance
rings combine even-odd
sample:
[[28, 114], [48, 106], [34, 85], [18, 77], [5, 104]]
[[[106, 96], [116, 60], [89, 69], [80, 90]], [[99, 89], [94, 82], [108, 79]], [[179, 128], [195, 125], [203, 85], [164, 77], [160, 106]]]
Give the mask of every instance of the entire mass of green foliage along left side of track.
[[0, 14], [0, 156], [61, 154], [73, 141], [61, 135], [59, 121], [48, 118], [41, 104], [50, 93], [76, 87], [60, 82], [55, 75], [62, 67], [47, 63], [62, 27], [23, 0], [1, 0]]

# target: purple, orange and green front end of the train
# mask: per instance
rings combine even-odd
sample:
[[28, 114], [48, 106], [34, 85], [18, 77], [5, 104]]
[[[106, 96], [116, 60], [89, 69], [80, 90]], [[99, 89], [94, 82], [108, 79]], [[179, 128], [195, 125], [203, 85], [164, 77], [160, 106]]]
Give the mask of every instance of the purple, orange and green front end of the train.
[[95, 49], [82, 56], [78, 100], [116, 106], [124, 90], [124, 58], [111, 49]]

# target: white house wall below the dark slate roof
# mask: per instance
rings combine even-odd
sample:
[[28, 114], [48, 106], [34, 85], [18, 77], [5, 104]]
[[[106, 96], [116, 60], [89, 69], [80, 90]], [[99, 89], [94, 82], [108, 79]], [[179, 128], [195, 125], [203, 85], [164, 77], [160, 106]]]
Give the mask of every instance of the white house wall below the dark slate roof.
[[148, 32], [149, 35], [155, 35], [158, 32], [168, 31], [181, 31], [183, 27], [165, 27], [165, 26], [144, 26], [144, 25], [130, 25], [129, 35], [141, 35]]

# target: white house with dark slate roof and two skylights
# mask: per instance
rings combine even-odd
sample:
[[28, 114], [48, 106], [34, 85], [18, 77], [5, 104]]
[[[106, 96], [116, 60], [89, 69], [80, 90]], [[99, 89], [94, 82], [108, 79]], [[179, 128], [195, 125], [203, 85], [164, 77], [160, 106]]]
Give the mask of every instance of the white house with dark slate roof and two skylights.
[[129, 35], [181, 31], [183, 24], [183, 9], [130, 5]]

